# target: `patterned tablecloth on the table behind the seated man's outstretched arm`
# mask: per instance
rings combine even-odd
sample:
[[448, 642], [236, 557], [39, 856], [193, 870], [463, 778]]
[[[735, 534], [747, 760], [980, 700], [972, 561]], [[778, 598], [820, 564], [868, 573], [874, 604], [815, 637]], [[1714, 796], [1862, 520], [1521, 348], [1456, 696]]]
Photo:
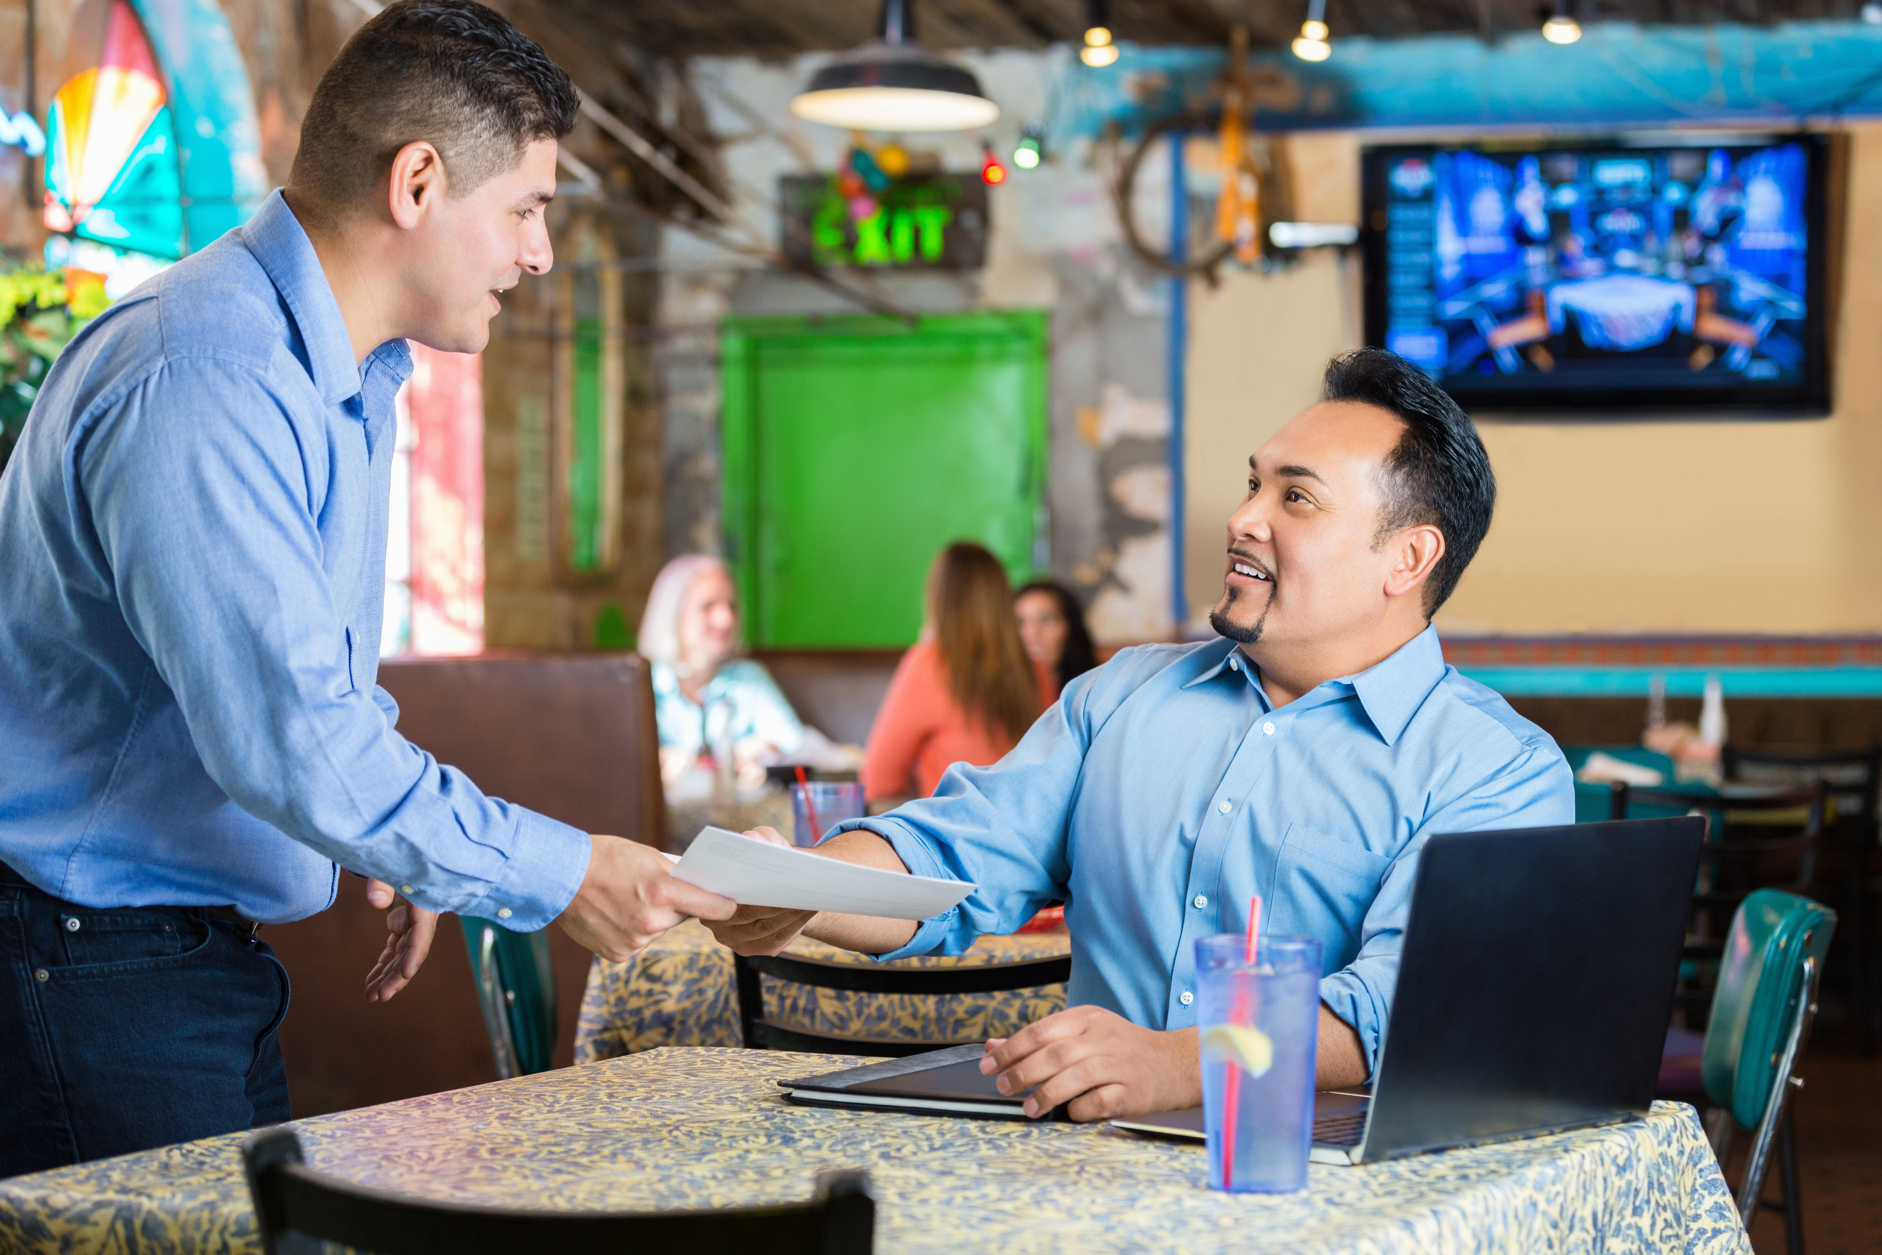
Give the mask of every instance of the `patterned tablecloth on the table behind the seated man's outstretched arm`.
[[[789, 954], [836, 963], [875, 960], [798, 939]], [[1060, 928], [1048, 933], [981, 937], [965, 954], [898, 960], [898, 967], [962, 967], [1018, 963], [1071, 954]], [[883, 1041], [986, 1041], [1011, 1037], [1035, 1020], [1065, 1009], [1065, 986], [1048, 984], [1007, 993], [843, 993], [790, 980], [764, 978], [764, 1010], [772, 1020], [815, 1033]], [[742, 1046], [732, 952], [694, 920], [681, 924], [627, 963], [597, 958], [589, 969], [582, 1018], [576, 1024], [576, 1063], [612, 1059], [655, 1046]]]

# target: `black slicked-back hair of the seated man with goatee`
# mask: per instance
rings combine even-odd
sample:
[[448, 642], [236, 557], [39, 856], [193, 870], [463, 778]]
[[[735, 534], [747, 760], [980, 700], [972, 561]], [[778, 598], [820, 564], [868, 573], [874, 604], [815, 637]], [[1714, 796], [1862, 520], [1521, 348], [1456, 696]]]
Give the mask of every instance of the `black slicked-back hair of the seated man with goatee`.
[[1327, 363], [1325, 401], [1359, 401], [1406, 425], [1385, 459], [1380, 536], [1428, 523], [1443, 532], [1443, 557], [1425, 581], [1430, 619], [1477, 555], [1496, 510], [1491, 455], [1451, 393], [1383, 348], [1355, 348]]

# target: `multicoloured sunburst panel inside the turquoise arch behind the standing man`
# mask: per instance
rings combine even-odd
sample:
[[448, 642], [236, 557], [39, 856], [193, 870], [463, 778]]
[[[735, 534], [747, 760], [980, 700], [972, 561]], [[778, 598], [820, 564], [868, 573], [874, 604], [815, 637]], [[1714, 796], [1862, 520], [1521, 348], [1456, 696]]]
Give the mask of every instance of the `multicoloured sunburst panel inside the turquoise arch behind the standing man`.
[[104, 4], [102, 23], [85, 13], [77, 23], [102, 26], [96, 64], [66, 79], [47, 115], [45, 226], [175, 260], [184, 254], [183, 171], [164, 77], [132, 6]]

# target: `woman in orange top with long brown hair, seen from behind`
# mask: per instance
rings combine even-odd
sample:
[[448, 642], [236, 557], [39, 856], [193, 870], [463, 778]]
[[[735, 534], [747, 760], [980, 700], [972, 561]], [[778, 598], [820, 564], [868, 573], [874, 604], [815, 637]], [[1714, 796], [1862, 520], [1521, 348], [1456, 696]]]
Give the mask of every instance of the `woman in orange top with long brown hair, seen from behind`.
[[901, 655], [869, 728], [869, 802], [926, 798], [956, 762], [999, 762], [1046, 707], [1048, 668], [1031, 662], [999, 559], [950, 544], [928, 572], [928, 625]]

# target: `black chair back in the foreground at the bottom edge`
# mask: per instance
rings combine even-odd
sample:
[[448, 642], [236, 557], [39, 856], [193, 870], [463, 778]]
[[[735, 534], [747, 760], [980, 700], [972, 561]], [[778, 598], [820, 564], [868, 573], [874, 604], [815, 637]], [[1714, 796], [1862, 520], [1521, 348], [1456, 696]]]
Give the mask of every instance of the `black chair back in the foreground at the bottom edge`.
[[[866, 1172], [822, 1172], [815, 1197], [715, 1212], [518, 1212], [429, 1202], [352, 1185], [301, 1161], [292, 1129], [243, 1140], [243, 1170], [265, 1255], [331, 1242], [371, 1255], [868, 1255], [875, 1195]], [[301, 1242], [295, 1242], [295, 1236]]]

